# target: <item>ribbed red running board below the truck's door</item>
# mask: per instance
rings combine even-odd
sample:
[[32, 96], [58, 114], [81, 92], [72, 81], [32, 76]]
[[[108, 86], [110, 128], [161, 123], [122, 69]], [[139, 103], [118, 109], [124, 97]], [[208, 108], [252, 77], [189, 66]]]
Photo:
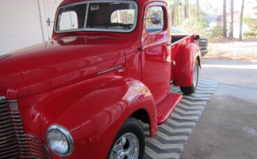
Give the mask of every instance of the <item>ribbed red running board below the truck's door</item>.
[[158, 125], [167, 121], [181, 99], [182, 95], [170, 93], [167, 94], [163, 100], [156, 104]]

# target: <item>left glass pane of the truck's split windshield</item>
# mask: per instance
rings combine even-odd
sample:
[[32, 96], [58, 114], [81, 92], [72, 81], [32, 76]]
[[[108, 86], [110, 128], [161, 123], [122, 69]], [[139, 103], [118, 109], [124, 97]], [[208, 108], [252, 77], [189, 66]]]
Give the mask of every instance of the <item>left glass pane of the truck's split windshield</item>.
[[86, 4], [60, 8], [56, 30], [63, 31], [84, 28], [86, 8]]

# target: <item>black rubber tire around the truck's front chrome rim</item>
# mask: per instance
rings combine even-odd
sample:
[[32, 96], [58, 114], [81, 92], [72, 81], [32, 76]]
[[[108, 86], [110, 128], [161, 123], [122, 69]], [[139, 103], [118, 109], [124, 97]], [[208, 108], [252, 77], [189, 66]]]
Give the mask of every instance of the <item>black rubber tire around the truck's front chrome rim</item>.
[[[113, 141], [113, 144], [110, 147], [107, 159], [111, 159], [113, 157], [113, 154], [114, 155], [117, 154], [117, 151], [115, 151], [116, 149], [114, 149], [114, 147], [115, 145], [118, 145], [119, 142], [121, 142], [122, 140], [121, 138], [126, 136], [126, 134], [131, 134], [131, 135], [133, 134], [138, 139], [139, 153], [138, 153], [138, 158], [135, 158], [135, 159], [142, 159], [144, 157], [144, 144], [145, 144], [144, 131], [141, 127], [140, 122], [138, 122], [138, 120], [136, 120], [135, 118], [128, 118], [128, 120], [126, 120], [126, 122], [122, 125], [122, 128], [119, 129], [119, 132], [117, 133], [115, 140]], [[129, 147], [128, 140], [126, 140], [126, 144], [124, 144], [122, 149], [125, 147]]]

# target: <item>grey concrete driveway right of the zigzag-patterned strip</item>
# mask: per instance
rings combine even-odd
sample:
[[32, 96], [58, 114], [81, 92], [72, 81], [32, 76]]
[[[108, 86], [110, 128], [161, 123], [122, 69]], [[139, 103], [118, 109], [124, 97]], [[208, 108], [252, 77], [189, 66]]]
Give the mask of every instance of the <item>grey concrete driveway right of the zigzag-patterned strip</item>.
[[257, 158], [257, 63], [206, 59], [203, 64], [200, 77], [219, 86], [181, 158]]

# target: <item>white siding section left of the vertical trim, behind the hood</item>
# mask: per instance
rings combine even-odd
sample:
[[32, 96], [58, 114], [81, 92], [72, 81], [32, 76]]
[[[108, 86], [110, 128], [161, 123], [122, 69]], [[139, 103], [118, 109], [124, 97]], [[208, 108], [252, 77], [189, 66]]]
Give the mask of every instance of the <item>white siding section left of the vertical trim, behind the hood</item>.
[[42, 40], [38, 1], [1, 0], [0, 55]]

